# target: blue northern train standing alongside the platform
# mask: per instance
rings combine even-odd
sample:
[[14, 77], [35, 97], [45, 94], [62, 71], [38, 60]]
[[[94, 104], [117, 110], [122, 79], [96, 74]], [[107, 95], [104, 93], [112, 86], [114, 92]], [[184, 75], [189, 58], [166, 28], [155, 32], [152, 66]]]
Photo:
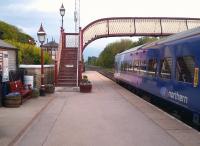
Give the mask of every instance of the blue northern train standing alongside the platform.
[[200, 124], [199, 67], [200, 27], [117, 54], [114, 77], [187, 109]]

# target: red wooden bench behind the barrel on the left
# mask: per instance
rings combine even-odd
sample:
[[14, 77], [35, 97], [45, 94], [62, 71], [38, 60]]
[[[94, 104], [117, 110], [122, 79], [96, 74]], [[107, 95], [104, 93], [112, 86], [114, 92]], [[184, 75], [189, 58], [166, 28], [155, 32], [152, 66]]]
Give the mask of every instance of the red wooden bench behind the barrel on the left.
[[9, 83], [10, 92], [19, 92], [22, 97], [22, 102], [32, 97], [31, 85], [24, 85], [21, 80], [12, 81]]

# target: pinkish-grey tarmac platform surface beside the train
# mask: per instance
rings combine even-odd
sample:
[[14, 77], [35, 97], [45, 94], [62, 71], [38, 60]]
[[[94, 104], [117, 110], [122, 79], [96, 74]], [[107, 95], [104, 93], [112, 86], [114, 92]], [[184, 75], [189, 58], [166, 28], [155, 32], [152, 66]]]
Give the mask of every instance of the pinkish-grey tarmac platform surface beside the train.
[[91, 93], [57, 88], [20, 108], [0, 108], [0, 145], [200, 146], [196, 130], [101, 74], [86, 74]]

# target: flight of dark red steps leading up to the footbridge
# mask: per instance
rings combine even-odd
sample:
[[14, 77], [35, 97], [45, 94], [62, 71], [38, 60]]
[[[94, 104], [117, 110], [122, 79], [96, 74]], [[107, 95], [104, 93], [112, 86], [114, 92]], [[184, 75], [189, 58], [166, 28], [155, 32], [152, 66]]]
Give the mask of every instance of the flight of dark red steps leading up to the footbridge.
[[76, 86], [77, 48], [64, 48], [61, 51], [57, 86]]

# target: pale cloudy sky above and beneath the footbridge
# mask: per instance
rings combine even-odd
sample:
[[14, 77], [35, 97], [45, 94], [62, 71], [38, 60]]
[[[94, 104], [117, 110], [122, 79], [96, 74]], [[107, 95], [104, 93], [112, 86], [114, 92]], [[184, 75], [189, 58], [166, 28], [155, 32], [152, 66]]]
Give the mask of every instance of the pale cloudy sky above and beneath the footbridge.
[[[22, 29], [37, 40], [41, 23], [49, 40], [59, 42], [63, 3], [65, 32], [74, 32], [75, 0], [0, 0], [0, 20]], [[199, 0], [80, 0], [80, 25], [106, 17], [191, 17], [200, 18]], [[84, 51], [98, 56], [105, 46], [121, 38], [94, 41]], [[131, 38], [134, 39], [134, 38]]]

